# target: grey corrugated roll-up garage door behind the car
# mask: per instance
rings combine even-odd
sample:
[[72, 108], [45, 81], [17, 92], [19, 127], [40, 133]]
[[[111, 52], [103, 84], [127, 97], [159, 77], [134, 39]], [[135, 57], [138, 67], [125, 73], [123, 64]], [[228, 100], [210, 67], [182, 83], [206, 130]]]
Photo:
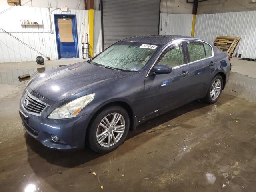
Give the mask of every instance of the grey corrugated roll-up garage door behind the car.
[[103, 0], [104, 49], [124, 38], [157, 35], [160, 0]]

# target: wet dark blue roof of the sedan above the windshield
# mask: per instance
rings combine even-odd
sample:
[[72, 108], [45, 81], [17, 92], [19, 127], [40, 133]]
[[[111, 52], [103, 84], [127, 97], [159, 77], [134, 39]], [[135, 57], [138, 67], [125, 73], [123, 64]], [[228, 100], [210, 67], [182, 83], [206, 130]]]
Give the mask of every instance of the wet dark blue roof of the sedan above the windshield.
[[122, 41], [132, 41], [132, 42], [142, 42], [142, 43], [152, 43], [152, 44], [165, 44], [170, 42], [174, 39], [180, 38], [189, 38], [189, 36], [182, 36], [182, 35], [143, 35], [143, 36], [136, 36], [123, 39]]

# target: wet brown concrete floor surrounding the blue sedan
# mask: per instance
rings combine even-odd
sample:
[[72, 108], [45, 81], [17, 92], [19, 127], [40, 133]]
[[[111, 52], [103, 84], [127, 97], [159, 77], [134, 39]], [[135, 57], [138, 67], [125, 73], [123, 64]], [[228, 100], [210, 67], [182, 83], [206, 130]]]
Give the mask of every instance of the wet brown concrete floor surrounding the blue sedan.
[[25, 81], [6, 80], [17, 71], [1, 67], [0, 191], [255, 191], [256, 78], [246, 76], [250, 68], [232, 72], [216, 104], [193, 102], [154, 118], [100, 155], [87, 148], [50, 150], [26, 134], [18, 114]]

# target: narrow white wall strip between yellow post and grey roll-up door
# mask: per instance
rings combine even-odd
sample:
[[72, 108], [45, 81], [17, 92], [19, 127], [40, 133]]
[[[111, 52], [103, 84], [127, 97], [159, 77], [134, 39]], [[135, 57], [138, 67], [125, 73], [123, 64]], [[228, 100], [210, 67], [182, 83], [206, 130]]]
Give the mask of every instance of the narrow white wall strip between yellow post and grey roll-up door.
[[94, 11], [93, 55], [102, 52], [101, 13]]

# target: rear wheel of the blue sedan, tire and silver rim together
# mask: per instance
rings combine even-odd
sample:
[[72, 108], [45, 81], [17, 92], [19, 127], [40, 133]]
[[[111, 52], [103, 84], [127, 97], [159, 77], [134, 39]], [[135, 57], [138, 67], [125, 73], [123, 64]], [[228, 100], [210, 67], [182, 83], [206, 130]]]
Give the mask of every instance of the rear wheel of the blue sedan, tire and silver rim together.
[[220, 98], [221, 92], [223, 88], [223, 79], [222, 76], [216, 75], [212, 79], [210, 83], [210, 87], [207, 91], [206, 97], [204, 98], [204, 102], [214, 104]]

